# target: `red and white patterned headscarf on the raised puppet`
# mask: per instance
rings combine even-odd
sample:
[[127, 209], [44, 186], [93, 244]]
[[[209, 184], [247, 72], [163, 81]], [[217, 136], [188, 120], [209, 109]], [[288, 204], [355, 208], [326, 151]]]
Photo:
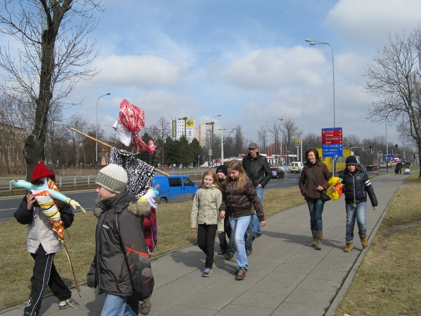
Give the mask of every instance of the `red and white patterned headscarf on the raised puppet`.
[[138, 108], [137, 106], [134, 106], [128, 102], [126, 99], [123, 99], [122, 103], [120, 103], [118, 121], [129, 132], [131, 132], [134, 151], [143, 150], [149, 151], [151, 154], [154, 153], [154, 142], [149, 140], [149, 143], [146, 144], [139, 136], [140, 130], [145, 127], [145, 112], [141, 108]]

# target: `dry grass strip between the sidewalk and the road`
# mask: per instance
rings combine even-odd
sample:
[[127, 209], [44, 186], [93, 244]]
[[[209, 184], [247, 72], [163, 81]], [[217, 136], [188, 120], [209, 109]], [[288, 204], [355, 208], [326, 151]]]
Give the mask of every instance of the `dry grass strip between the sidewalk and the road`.
[[[297, 187], [270, 189], [265, 191], [263, 207], [266, 216], [270, 216], [303, 202]], [[196, 242], [196, 233], [190, 229], [191, 208], [192, 202], [159, 205], [158, 248], [155, 249], [153, 257]], [[76, 214], [75, 221], [68, 230], [70, 236], [65, 235], [80, 283], [86, 280], [86, 273], [94, 255], [96, 221], [91, 212]], [[22, 304], [30, 293], [34, 262], [26, 251], [26, 230], [26, 225], [15, 221], [0, 223], [0, 311]], [[64, 250], [57, 253], [54, 263], [66, 284], [75, 284]]]

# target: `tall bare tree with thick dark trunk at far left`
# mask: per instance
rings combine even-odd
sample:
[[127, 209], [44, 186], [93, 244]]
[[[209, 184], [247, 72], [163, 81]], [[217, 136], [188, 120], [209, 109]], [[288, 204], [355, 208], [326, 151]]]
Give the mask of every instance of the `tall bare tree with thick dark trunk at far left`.
[[28, 180], [45, 158], [51, 104], [64, 105], [80, 79], [96, 74], [87, 69], [99, 53], [96, 40], [89, 44], [87, 38], [96, 27], [95, 9], [102, 10], [94, 0], [2, 0], [0, 32], [20, 44], [15, 52], [10, 46], [0, 48], [3, 88], [36, 104], [34, 127], [24, 145]]

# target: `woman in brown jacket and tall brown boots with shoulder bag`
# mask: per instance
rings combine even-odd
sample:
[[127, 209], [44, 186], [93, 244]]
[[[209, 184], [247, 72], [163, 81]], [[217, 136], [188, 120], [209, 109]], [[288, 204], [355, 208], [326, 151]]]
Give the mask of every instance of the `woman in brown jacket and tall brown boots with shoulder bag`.
[[321, 199], [320, 191], [328, 188], [328, 181], [332, 176], [328, 167], [320, 160], [317, 149], [307, 149], [305, 157], [306, 161], [301, 171], [298, 186], [310, 212], [313, 246], [320, 250], [322, 249], [323, 240], [322, 213], [325, 206], [325, 202]]

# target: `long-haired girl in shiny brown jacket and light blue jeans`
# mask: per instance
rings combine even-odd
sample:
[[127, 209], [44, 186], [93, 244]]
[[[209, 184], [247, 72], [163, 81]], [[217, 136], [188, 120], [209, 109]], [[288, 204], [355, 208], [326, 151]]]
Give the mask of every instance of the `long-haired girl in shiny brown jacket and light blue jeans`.
[[228, 217], [237, 250], [236, 280], [243, 280], [249, 270], [244, 234], [249, 226], [252, 205], [260, 225], [264, 227], [263, 208], [257, 197], [253, 182], [247, 179], [243, 166], [238, 160], [233, 160], [228, 166], [228, 175], [222, 183], [222, 204], [219, 208], [223, 219]]

